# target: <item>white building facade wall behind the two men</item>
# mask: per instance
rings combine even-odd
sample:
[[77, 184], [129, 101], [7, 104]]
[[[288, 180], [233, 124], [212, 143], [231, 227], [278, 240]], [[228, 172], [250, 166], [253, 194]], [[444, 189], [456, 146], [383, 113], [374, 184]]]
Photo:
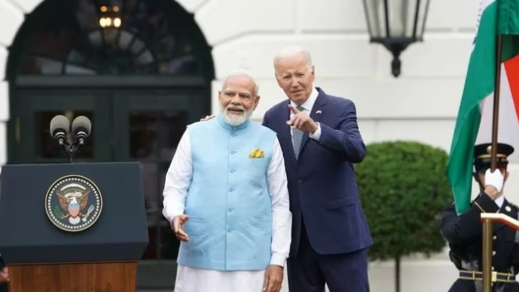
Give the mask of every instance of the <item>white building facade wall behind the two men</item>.
[[[9, 84], [5, 77], [8, 47], [18, 28], [41, 0], [0, 0], [0, 165], [8, 161]], [[403, 53], [402, 74], [390, 72], [391, 55], [369, 44], [361, 0], [177, 0], [195, 15], [212, 46], [216, 78], [212, 111], [221, 79], [231, 70], [251, 71], [260, 84], [254, 119], [284, 99], [274, 79], [272, 58], [286, 45], [302, 45], [316, 67], [316, 85], [357, 105], [366, 143], [416, 140], [448, 151], [467, 70], [478, 0], [431, 1], [425, 42]], [[519, 151], [519, 150], [518, 150]], [[519, 176], [511, 166], [512, 178]], [[507, 188], [519, 199], [519, 183]], [[515, 200], [517, 201], [517, 200]], [[457, 278], [447, 253], [402, 263], [402, 292], [446, 291]], [[346, 275], [347, 276], [347, 275]], [[372, 263], [372, 291], [393, 290], [391, 262]], [[286, 288], [285, 288], [286, 289]]]

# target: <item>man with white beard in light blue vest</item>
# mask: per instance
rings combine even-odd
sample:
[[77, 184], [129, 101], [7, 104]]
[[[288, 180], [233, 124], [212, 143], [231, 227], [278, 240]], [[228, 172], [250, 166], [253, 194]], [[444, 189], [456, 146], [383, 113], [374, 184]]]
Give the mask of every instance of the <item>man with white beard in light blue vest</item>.
[[250, 117], [260, 97], [239, 71], [221, 112], [187, 127], [166, 175], [162, 214], [181, 241], [175, 292], [278, 292], [292, 215], [276, 133]]

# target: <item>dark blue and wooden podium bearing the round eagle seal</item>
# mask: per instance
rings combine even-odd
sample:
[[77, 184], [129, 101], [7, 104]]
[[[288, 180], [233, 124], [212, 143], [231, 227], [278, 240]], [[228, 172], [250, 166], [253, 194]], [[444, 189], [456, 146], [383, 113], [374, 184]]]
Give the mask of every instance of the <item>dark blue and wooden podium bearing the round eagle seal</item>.
[[[135, 291], [148, 244], [140, 173], [139, 163], [4, 166], [0, 253], [9, 292]], [[79, 213], [60, 201], [74, 196]], [[71, 214], [87, 220], [69, 224]]]

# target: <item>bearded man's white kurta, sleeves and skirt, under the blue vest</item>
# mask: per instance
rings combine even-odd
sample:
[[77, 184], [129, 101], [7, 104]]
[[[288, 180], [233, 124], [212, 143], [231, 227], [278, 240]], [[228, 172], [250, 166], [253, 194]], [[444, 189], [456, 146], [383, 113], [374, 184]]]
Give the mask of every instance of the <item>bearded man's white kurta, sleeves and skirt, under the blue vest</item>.
[[[172, 222], [175, 216], [184, 214], [187, 190], [193, 178], [193, 171], [196, 171], [196, 169], [193, 169], [189, 132], [186, 130], [180, 139], [166, 174], [162, 214], [169, 222]], [[268, 192], [272, 202], [272, 255], [270, 263], [283, 267], [290, 252], [292, 214], [289, 207], [283, 153], [278, 139], [274, 143], [274, 152], [266, 176]], [[175, 292], [261, 291], [263, 278], [264, 271], [224, 272], [179, 265]]]

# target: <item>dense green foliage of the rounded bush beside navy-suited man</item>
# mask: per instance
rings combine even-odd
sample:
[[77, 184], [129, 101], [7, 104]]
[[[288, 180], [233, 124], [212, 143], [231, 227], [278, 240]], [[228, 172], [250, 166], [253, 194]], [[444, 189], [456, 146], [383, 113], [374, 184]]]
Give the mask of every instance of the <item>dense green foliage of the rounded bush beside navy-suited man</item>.
[[355, 172], [374, 245], [371, 260], [429, 256], [445, 246], [439, 215], [451, 201], [445, 175], [447, 153], [418, 142], [367, 146]]

